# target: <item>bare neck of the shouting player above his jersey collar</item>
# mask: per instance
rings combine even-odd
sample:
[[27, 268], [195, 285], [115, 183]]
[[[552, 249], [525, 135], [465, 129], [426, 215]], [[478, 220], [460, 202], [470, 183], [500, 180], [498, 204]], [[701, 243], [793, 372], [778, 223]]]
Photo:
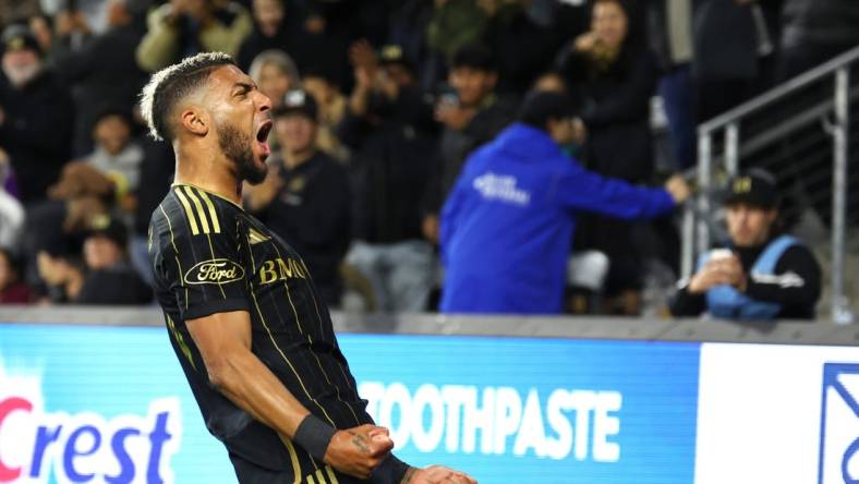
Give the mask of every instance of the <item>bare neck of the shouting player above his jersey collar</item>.
[[182, 149], [176, 145], [173, 149], [177, 154], [174, 183], [194, 185], [241, 205], [242, 184], [227, 169], [229, 164], [222, 159], [222, 153], [205, 148]]

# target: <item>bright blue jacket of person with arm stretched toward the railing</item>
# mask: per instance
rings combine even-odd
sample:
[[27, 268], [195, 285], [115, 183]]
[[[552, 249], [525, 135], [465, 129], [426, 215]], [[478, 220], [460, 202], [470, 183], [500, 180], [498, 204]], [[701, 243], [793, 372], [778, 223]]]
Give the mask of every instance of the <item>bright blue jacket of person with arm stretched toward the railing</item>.
[[576, 213], [650, 218], [662, 189], [584, 170], [540, 129], [512, 124], [475, 150], [441, 210], [444, 313], [557, 314]]

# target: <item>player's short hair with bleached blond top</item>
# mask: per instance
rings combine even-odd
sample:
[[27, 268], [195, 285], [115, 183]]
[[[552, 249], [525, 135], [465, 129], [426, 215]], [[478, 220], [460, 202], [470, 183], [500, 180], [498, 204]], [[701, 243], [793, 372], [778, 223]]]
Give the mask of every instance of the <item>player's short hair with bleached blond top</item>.
[[173, 141], [170, 113], [179, 101], [203, 86], [211, 71], [222, 65], [235, 65], [235, 61], [223, 52], [204, 52], [153, 74], [141, 93], [141, 114], [149, 126], [149, 135]]

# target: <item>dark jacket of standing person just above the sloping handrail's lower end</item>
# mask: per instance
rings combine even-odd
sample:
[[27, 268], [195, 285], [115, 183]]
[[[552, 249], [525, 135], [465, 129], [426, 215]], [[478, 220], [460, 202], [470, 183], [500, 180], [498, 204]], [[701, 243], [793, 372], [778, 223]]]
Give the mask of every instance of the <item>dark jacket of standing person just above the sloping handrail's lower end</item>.
[[[777, 39], [766, 24], [762, 3], [704, 0], [695, 9], [692, 75], [699, 123], [741, 104], [769, 84]], [[725, 35], [728, 29], [730, 35]]]

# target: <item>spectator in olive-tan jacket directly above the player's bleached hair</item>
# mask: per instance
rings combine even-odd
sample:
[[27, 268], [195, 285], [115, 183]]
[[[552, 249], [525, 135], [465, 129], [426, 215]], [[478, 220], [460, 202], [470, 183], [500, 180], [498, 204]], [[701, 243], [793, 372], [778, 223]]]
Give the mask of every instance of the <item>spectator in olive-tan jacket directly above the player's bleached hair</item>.
[[170, 0], [153, 10], [137, 46], [137, 64], [155, 72], [198, 52], [235, 56], [253, 28], [247, 9], [229, 1]]

